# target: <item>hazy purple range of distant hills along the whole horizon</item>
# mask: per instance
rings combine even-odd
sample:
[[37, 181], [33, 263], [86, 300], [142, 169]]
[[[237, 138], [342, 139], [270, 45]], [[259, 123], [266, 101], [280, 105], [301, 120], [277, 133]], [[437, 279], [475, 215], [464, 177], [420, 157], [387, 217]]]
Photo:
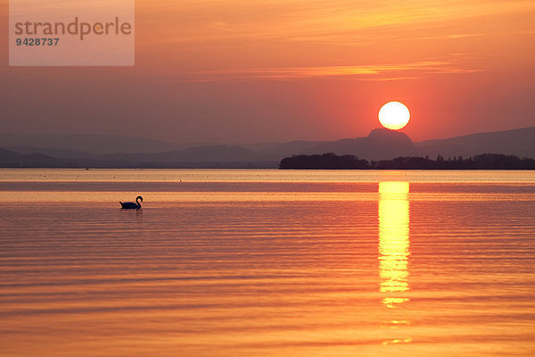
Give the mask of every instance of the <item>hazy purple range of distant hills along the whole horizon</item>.
[[354, 155], [369, 161], [438, 154], [448, 159], [476, 154], [535, 158], [535, 127], [413, 143], [407, 134], [374, 129], [367, 137], [258, 145], [178, 144], [140, 137], [0, 134], [4, 167], [276, 167], [300, 154]]

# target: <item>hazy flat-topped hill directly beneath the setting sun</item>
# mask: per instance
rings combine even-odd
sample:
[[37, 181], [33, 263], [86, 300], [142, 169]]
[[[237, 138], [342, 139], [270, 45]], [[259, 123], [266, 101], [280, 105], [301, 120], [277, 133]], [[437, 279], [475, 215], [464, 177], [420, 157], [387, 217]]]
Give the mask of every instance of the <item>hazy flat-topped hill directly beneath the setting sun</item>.
[[368, 160], [391, 159], [416, 154], [407, 134], [389, 129], [374, 129], [367, 137], [336, 140], [309, 147], [300, 154], [353, 154]]

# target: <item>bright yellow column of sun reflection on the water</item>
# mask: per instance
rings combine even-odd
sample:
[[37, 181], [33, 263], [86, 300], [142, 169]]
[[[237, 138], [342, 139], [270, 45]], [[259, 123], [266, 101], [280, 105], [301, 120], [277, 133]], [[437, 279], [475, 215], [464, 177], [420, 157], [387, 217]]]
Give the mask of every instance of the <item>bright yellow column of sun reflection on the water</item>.
[[383, 304], [395, 308], [408, 298], [399, 293], [409, 290], [408, 182], [379, 183], [379, 272]]

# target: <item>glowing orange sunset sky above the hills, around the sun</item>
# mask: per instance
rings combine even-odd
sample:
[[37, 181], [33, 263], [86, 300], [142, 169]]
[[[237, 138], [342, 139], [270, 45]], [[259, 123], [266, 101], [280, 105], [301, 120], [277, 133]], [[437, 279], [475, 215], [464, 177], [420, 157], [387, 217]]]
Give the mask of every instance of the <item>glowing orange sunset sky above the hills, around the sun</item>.
[[1, 37], [0, 132], [333, 140], [390, 101], [415, 141], [535, 126], [533, 19], [532, 0], [137, 0], [134, 67], [9, 67]]

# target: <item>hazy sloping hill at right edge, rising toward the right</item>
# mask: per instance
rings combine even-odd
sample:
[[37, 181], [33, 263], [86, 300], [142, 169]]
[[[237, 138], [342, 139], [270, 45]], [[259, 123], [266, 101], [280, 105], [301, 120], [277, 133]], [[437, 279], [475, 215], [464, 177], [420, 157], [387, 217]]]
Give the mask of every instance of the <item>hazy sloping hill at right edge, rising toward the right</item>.
[[499, 153], [519, 157], [535, 157], [535, 127], [427, 140], [415, 145], [418, 154], [430, 156], [441, 154], [449, 157]]

